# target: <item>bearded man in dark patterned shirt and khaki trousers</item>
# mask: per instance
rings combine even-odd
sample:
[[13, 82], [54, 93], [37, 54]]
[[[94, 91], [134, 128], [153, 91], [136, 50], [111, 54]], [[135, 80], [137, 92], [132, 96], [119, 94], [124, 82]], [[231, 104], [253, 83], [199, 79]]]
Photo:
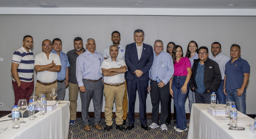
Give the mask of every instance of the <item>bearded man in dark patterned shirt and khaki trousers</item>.
[[84, 49], [83, 39], [76, 37], [74, 39], [75, 49], [67, 52], [69, 68], [68, 68], [68, 101], [70, 101], [70, 125], [75, 124], [76, 120], [76, 107], [77, 107], [77, 96], [78, 96], [78, 83], [76, 80], [76, 58], [86, 50]]

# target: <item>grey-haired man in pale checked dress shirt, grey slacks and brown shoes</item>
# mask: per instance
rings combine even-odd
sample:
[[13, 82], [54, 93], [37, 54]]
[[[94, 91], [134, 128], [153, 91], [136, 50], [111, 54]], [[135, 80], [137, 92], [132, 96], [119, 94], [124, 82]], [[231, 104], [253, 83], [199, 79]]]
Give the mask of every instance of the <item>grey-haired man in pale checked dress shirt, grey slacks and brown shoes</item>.
[[86, 42], [87, 51], [80, 54], [76, 59], [76, 80], [81, 92], [84, 130], [89, 131], [91, 130], [91, 123], [89, 121], [88, 108], [91, 99], [94, 106], [93, 127], [102, 129], [99, 122], [104, 84], [102, 82], [100, 66], [104, 58], [101, 53], [95, 51], [96, 44], [93, 38], [88, 38]]

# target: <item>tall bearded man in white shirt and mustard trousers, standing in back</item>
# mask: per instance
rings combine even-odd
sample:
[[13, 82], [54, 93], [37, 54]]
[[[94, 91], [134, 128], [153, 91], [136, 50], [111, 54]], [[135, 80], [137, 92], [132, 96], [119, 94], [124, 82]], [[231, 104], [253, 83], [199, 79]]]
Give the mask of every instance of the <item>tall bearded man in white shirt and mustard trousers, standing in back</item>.
[[[117, 56], [117, 58], [124, 59], [125, 46], [120, 44], [120, 41], [121, 41], [120, 33], [118, 31], [113, 31], [111, 36], [112, 36], [111, 37], [111, 41], [113, 42], [113, 44], [111, 44], [111, 45], [116, 45], [118, 47], [118, 56]], [[110, 58], [109, 47], [111, 45], [108, 45], [103, 50], [102, 55], [103, 55], [104, 59]], [[123, 125], [126, 123], [126, 116], [127, 116], [127, 110], [128, 110], [128, 99], [127, 99], [127, 86], [126, 86], [126, 82], [125, 82], [124, 86], [125, 86], [125, 93], [124, 93], [124, 101], [123, 101], [123, 111], [124, 111]]]

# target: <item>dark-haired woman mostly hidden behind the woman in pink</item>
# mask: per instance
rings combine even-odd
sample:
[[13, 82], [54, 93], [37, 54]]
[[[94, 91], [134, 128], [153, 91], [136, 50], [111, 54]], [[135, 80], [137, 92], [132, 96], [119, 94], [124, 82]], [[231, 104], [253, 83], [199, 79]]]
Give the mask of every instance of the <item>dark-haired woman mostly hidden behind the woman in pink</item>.
[[[172, 49], [173, 49], [174, 46], [175, 46], [174, 42], [169, 42], [167, 44], [166, 52], [168, 52], [171, 56], [172, 56]], [[169, 101], [168, 101], [168, 117], [166, 119], [167, 125], [170, 124], [171, 121], [172, 121], [172, 117], [171, 117], [171, 102], [172, 102], [172, 96], [170, 94], [169, 95]], [[176, 108], [175, 108], [174, 105], [173, 105], [173, 112], [174, 112], [174, 115], [173, 115], [174, 125], [176, 125]]]

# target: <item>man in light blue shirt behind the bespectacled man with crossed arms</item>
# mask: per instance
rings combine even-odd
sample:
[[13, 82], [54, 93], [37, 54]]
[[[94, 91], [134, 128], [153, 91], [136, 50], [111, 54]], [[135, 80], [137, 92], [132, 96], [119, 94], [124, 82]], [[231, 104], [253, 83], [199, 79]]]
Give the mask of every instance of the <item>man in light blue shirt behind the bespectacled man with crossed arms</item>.
[[62, 42], [59, 38], [54, 38], [52, 40], [52, 45], [52, 53], [58, 54], [61, 62], [61, 69], [57, 72], [57, 101], [63, 101], [66, 94], [66, 87], [68, 86], [68, 56], [61, 51]]

